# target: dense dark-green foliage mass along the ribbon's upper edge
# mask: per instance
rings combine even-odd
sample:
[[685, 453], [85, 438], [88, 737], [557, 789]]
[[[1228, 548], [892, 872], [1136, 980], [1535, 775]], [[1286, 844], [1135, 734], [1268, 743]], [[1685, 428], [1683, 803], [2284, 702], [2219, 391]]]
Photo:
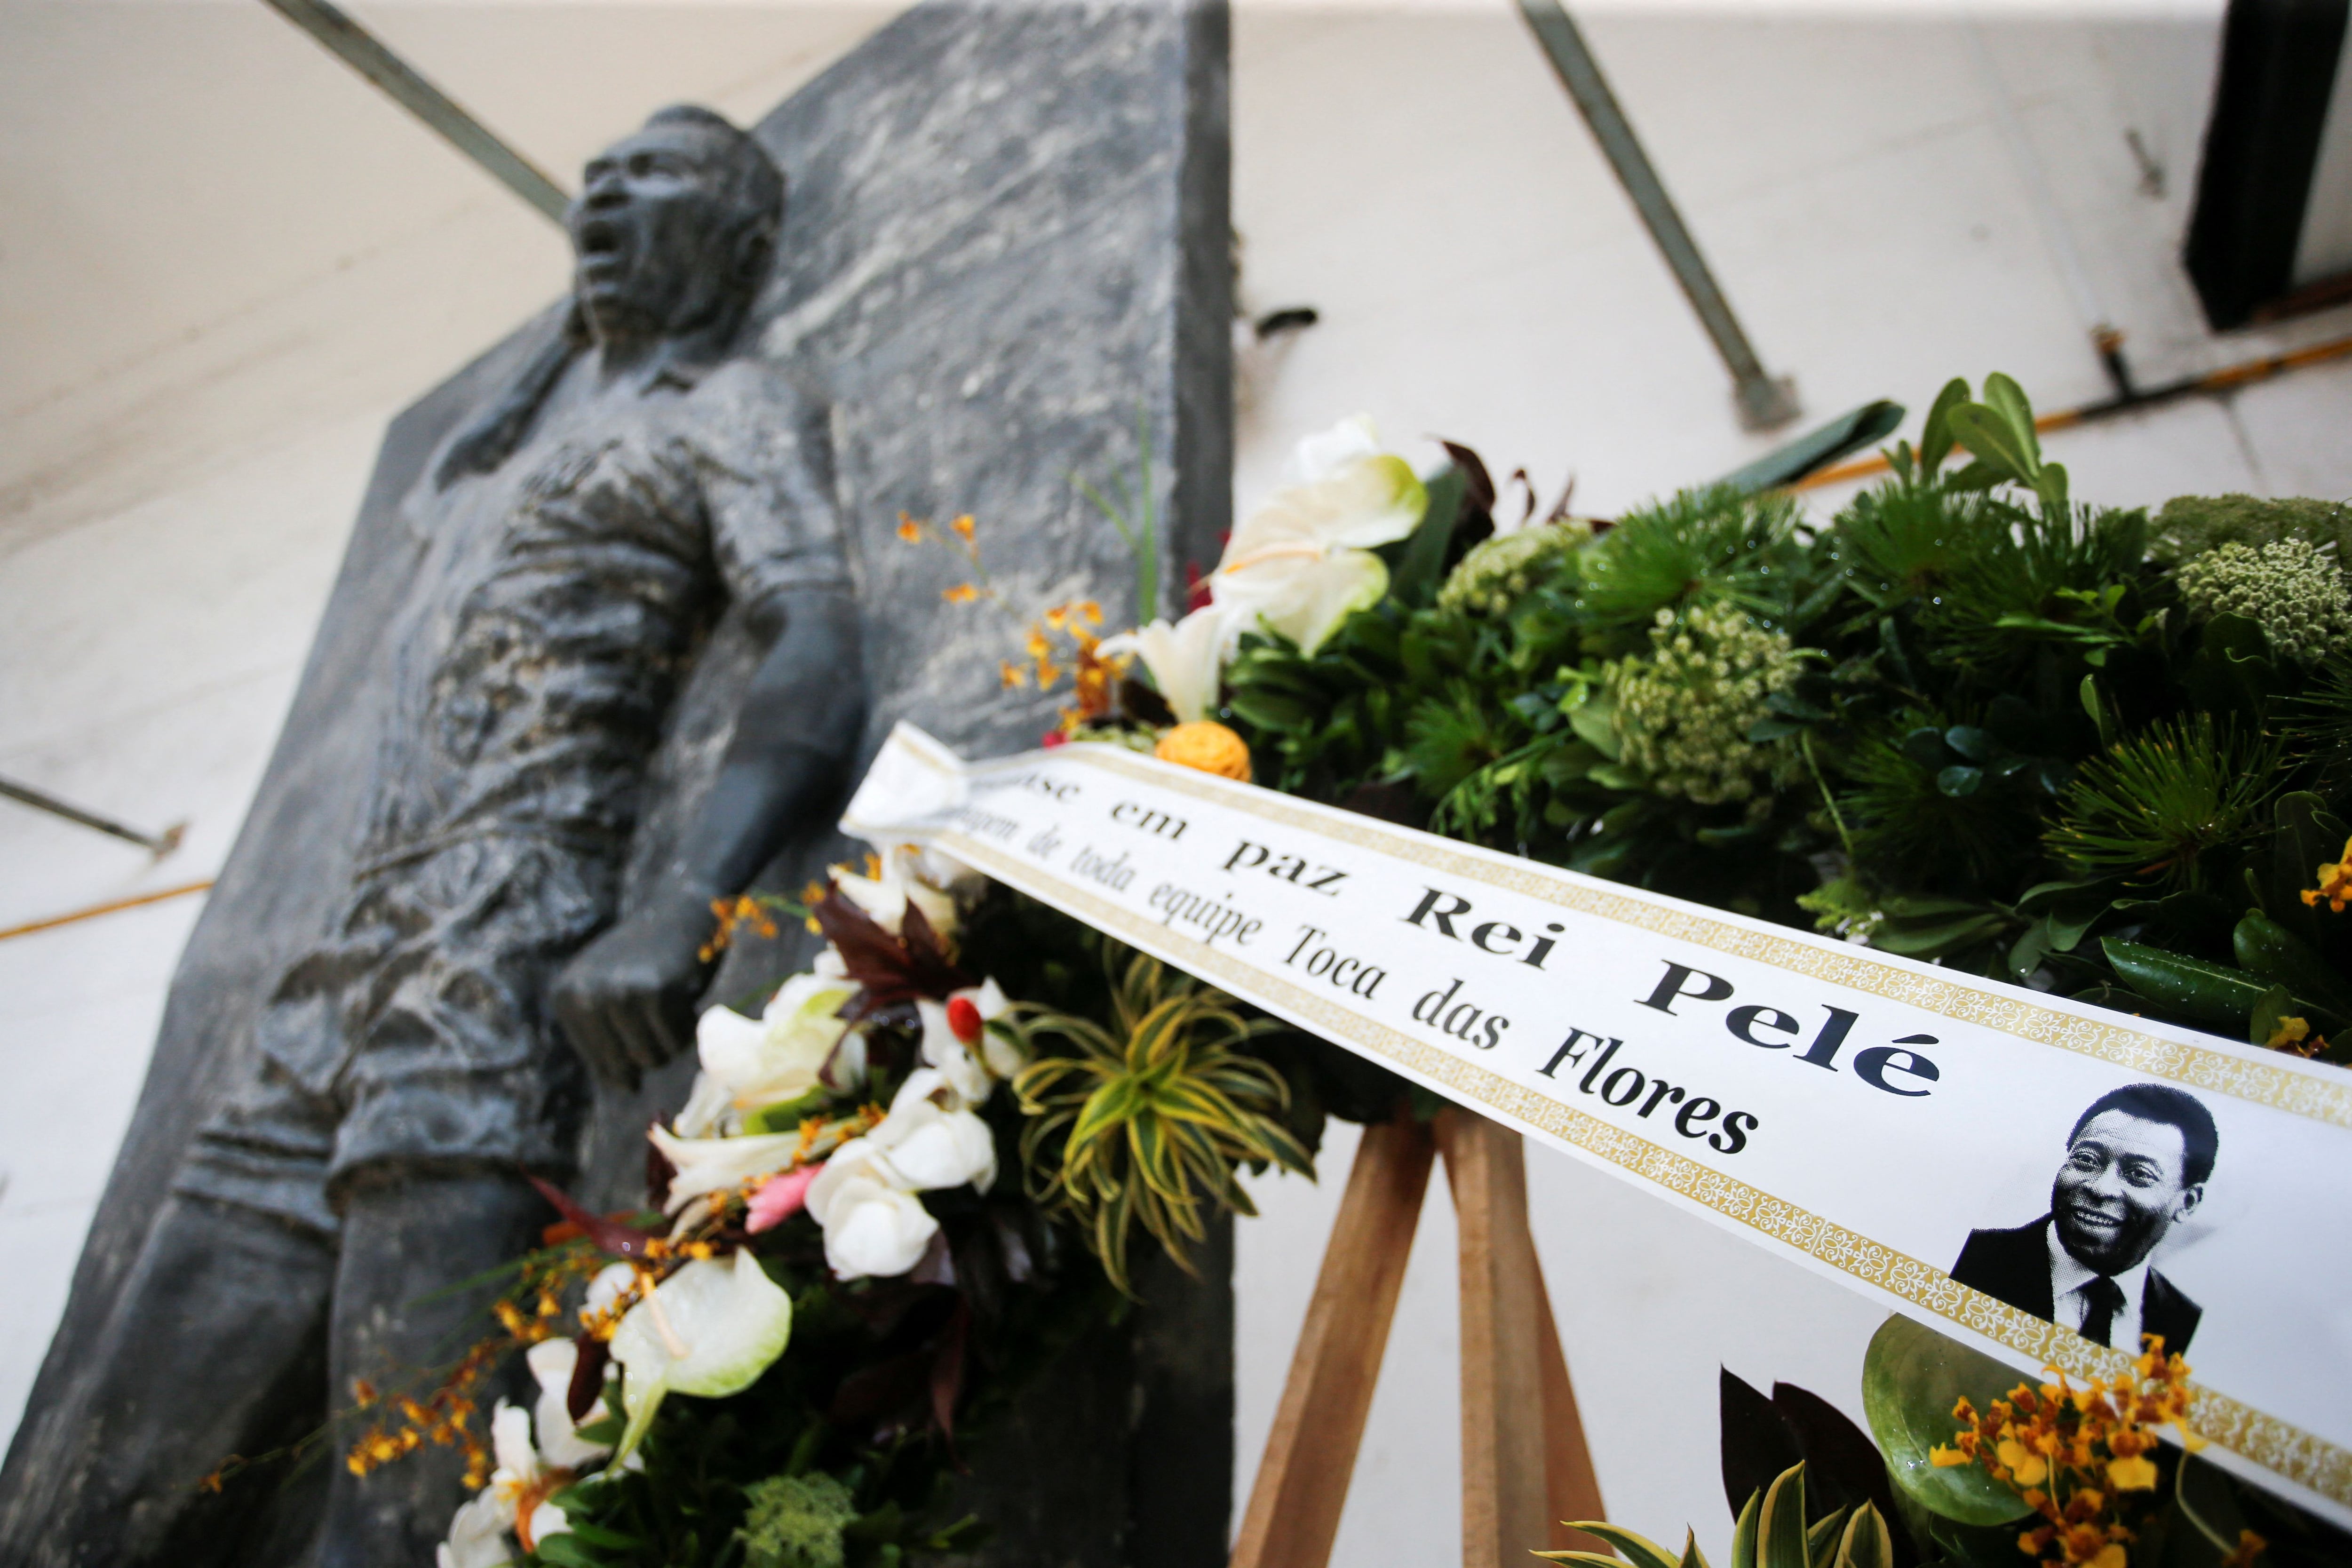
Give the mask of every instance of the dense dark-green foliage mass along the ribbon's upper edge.
[[[2352, 646], [2314, 656], [2352, 508], [2079, 505], [2006, 376], [1891, 461], [1828, 520], [1717, 484], [1477, 545], [1312, 658], [1247, 639], [1223, 717], [1296, 795], [2234, 1037], [2288, 985], [2352, 1034], [2232, 952], [2251, 903], [2352, 973], [2352, 912], [2300, 900], [2352, 816]], [[2126, 947], [2263, 983], [2152, 997]]]

